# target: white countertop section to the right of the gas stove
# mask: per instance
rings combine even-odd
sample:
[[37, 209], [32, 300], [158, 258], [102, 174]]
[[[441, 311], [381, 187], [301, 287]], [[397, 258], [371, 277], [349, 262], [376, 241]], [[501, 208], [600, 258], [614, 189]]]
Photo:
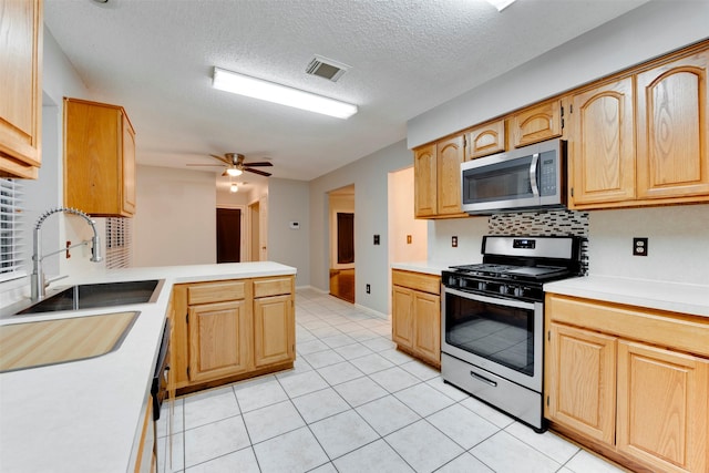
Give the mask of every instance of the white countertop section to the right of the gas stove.
[[546, 292], [709, 317], [709, 286], [587, 276], [544, 285]]

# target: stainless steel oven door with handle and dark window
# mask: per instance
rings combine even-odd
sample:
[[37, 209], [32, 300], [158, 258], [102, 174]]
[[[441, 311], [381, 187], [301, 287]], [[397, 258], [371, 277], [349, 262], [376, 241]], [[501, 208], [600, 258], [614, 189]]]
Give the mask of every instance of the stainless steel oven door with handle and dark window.
[[442, 312], [442, 352], [542, 392], [542, 302], [444, 288]]

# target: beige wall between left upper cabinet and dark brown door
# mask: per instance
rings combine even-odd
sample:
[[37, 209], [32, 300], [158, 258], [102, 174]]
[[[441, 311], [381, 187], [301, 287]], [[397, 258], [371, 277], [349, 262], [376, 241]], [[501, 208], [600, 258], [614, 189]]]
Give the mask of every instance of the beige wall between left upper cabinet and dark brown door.
[[216, 263], [214, 174], [138, 165], [133, 266]]

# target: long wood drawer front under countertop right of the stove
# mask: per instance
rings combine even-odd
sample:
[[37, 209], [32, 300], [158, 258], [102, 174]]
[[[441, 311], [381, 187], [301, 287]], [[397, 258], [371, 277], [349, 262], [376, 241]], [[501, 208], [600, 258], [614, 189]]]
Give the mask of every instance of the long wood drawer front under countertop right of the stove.
[[551, 320], [709, 357], [709, 319], [547, 295]]

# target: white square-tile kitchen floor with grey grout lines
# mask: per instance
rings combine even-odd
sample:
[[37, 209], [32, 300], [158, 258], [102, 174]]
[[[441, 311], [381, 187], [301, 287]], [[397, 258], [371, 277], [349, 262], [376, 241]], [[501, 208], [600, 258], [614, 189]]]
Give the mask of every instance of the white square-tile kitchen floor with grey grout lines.
[[160, 472], [619, 472], [444, 384], [394, 349], [391, 325], [321, 292], [296, 297], [285, 372], [181, 398]]

